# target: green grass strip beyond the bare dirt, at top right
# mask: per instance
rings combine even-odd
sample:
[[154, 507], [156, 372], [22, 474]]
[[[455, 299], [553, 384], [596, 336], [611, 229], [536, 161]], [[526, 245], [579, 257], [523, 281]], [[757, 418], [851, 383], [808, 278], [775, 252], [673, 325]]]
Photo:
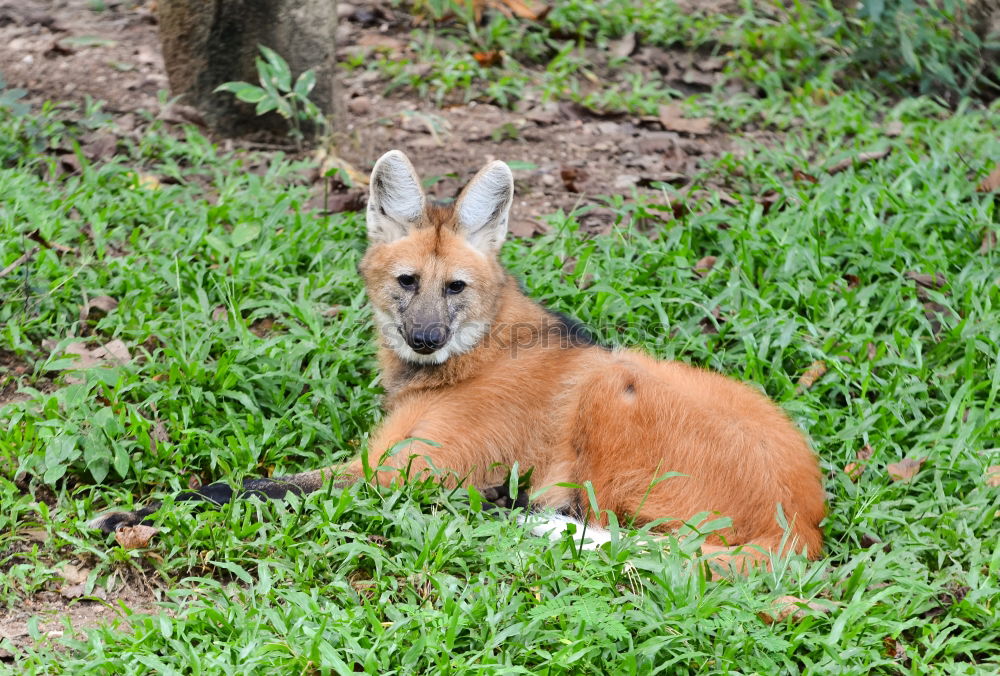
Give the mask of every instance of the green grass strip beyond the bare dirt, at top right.
[[[515, 108], [541, 98], [648, 115], [685, 98], [655, 68], [614, 56], [626, 36], [639, 48], [721, 59], [716, 90], [729, 83], [770, 97], [824, 78], [834, 88], [923, 94], [953, 106], [967, 96], [992, 99], [1000, 87], [994, 56], [1000, 35], [977, 33], [964, 0], [862, 0], [837, 3], [839, 9], [829, 0], [745, 0], [729, 13], [694, 3], [685, 3], [685, 11], [673, 0], [564, 0], [537, 21], [487, 11], [481, 24], [472, 19], [471, 3], [394, 4], [400, 16], [421, 19], [408, 51], [362, 51], [345, 65], [379, 72], [389, 92], [439, 104], [477, 100]], [[502, 52], [502, 59], [484, 66], [477, 52]]]

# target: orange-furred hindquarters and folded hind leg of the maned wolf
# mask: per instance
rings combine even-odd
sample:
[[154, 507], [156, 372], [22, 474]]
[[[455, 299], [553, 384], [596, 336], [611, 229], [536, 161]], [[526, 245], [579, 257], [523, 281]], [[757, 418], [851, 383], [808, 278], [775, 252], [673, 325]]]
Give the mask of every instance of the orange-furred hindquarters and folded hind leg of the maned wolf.
[[[808, 446], [773, 404], [758, 405], [759, 395], [742, 386], [721, 377], [709, 383], [720, 397], [753, 404], [752, 416], [692, 396], [709, 377], [641, 355], [594, 369], [567, 430], [580, 480], [591, 480], [599, 506], [620, 522], [664, 519], [661, 527], [673, 529], [698, 515], [731, 519], [703, 547], [722, 569], [766, 567], [772, 554], [802, 549], [817, 556], [822, 499]], [[654, 485], [668, 472], [678, 475]], [[791, 524], [787, 540], [779, 505]]]

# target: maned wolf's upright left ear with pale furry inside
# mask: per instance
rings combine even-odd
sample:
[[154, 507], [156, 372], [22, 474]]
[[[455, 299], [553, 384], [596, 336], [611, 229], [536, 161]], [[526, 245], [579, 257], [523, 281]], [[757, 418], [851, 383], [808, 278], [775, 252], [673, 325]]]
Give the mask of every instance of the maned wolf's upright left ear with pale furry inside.
[[387, 244], [406, 237], [424, 212], [424, 191], [413, 165], [390, 150], [372, 169], [368, 195], [368, 240]]

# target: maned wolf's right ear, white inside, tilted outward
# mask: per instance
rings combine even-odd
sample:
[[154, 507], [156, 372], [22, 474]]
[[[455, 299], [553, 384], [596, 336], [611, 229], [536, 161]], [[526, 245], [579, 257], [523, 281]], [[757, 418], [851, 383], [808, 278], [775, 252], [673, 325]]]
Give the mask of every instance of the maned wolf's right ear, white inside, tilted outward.
[[514, 176], [497, 160], [480, 169], [458, 197], [459, 232], [484, 254], [495, 254], [507, 236], [507, 215], [514, 202]]

